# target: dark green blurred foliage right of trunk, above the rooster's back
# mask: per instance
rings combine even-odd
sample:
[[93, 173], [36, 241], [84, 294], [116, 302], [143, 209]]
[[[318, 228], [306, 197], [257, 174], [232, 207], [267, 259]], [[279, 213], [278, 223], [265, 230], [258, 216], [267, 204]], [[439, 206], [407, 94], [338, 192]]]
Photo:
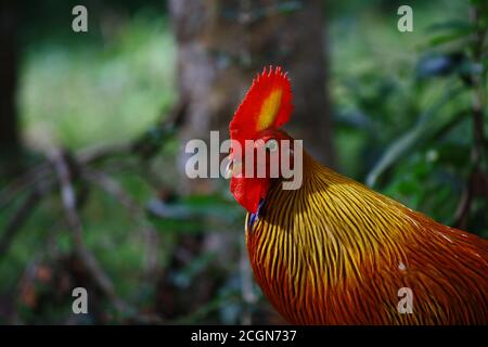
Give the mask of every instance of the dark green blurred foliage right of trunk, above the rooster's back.
[[[471, 175], [473, 88], [466, 78], [487, 69], [468, 56], [468, 4], [412, 3], [414, 31], [404, 34], [393, 29], [398, 17], [364, 5], [331, 30], [343, 170], [446, 224], [454, 223]], [[467, 229], [488, 236], [486, 211], [486, 200], [477, 198]]]

